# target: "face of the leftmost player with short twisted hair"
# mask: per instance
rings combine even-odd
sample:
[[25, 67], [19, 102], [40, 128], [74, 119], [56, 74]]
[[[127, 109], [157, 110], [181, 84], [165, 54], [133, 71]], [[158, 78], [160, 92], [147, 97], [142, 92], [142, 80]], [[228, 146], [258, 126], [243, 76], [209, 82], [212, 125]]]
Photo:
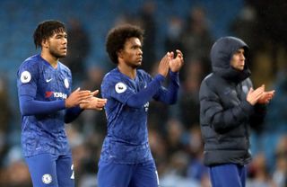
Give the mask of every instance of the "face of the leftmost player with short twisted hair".
[[65, 32], [54, 33], [48, 38], [49, 53], [56, 58], [65, 58], [67, 49], [67, 35]]

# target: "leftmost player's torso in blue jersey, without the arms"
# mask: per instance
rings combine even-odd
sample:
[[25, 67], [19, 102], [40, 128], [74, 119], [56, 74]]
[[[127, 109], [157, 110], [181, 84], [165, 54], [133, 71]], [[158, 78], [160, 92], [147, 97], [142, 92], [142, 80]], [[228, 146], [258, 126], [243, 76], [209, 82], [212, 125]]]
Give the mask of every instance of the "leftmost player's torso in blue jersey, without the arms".
[[[35, 100], [50, 102], [65, 100], [70, 94], [71, 75], [58, 64], [53, 68], [38, 63]], [[35, 76], [35, 75], [34, 75]], [[22, 146], [25, 156], [39, 153], [69, 152], [65, 124], [65, 110], [22, 117]]]

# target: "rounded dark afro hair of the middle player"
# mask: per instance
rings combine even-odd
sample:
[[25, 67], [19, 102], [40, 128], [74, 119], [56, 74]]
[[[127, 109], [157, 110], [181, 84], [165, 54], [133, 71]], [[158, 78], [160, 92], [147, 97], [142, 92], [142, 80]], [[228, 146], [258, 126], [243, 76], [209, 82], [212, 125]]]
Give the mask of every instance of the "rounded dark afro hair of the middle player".
[[126, 40], [138, 38], [143, 43], [143, 30], [135, 25], [125, 24], [111, 29], [107, 35], [106, 50], [109, 58], [117, 64], [117, 52], [124, 49]]

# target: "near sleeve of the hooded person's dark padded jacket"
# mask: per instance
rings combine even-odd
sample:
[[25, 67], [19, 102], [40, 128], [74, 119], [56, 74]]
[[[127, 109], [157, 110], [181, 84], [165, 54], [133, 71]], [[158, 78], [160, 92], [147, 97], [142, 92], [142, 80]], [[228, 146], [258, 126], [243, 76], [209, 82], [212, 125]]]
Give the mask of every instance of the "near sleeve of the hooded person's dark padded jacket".
[[205, 79], [200, 87], [199, 99], [201, 123], [211, 126], [218, 133], [237, 128], [244, 120], [249, 120], [249, 115], [254, 111], [247, 101], [224, 109], [220, 96], [215, 92], [215, 86], [207, 85]]

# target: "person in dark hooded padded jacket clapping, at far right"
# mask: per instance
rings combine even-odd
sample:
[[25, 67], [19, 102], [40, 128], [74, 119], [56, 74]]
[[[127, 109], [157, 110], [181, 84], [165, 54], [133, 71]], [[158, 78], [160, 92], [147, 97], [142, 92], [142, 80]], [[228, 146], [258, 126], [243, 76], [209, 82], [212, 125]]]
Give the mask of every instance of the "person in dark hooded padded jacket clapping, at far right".
[[247, 54], [243, 40], [217, 40], [211, 49], [213, 73], [200, 86], [204, 165], [209, 166], [213, 187], [245, 186], [245, 165], [251, 160], [249, 128], [263, 122], [265, 105], [274, 96], [265, 85], [252, 88]]

